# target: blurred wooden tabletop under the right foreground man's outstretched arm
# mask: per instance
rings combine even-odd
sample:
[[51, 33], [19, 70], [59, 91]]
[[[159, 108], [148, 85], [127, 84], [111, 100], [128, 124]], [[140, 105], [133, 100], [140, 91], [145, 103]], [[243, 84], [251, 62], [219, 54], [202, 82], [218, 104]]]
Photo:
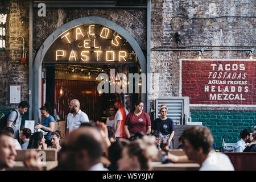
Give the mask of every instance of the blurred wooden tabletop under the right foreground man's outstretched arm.
[[200, 165], [197, 163], [168, 163], [152, 162], [152, 171], [197, 171]]

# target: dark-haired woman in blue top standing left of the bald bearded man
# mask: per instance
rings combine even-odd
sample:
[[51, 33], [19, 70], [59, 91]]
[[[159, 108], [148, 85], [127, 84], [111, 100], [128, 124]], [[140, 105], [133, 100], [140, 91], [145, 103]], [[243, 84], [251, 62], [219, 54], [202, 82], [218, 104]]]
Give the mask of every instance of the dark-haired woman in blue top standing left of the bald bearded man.
[[44, 106], [42, 106], [40, 110], [42, 114], [42, 122], [41, 124], [38, 123], [35, 128], [42, 129], [43, 131], [48, 132], [44, 137], [46, 138], [46, 143], [49, 147], [52, 146], [51, 133], [54, 131], [55, 119], [51, 115], [49, 115], [49, 111], [51, 110], [49, 103], [44, 104]]

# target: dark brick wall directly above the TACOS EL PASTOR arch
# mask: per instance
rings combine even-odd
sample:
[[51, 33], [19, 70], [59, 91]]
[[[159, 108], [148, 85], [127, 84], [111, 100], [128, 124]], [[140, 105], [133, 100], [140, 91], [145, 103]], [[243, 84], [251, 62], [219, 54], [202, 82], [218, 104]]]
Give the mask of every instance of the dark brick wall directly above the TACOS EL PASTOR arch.
[[125, 28], [137, 41], [146, 55], [146, 9], [114, 9], [114, 8], [47, 8], [46, 17], [39, 17], [38, 10], [33, 12], [33, 48], [38, 51], [44, 40], [57, 28], [71, 20], [98, 16], [108, 19]]

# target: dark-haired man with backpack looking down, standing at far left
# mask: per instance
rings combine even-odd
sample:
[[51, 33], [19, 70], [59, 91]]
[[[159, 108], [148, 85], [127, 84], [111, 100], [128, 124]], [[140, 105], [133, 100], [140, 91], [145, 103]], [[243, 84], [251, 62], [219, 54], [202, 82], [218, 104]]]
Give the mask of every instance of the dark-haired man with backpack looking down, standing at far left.
[[[14, 129], [14, 138], [19, 139], [19, 130], [20, 130], [20, 125], [22, 122], [22, 116], [21, 114], [26, 113], [26, 111], [30, 108], [30, 105], [28, 104], [27, 101], [21, 101], [19, 103], [18, 109], [15, 109], [11, 111], [7, 118], [7, 126], [12, 127]], [[17, 118], [18, 114], [18, 118]], [[16, 119], [17, 118], [17, 119]], [[16, 119], [16, 122], [14, 123]]]

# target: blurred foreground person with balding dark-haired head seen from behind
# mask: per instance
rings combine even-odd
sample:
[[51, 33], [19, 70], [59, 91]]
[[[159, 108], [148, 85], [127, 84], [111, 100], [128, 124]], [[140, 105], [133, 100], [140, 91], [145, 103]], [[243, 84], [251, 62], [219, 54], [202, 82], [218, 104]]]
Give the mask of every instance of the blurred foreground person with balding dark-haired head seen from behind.
[[79, 127], [65, 138], [55, 170], [106, 171], [101, 161], [105, 142], [94, 127]]

